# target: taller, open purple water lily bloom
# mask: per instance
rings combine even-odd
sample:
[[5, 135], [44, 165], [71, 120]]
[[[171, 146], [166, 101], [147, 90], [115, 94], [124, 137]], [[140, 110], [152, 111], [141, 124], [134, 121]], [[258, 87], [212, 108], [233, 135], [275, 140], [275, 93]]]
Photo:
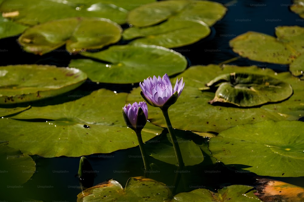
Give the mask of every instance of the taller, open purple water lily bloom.
[[154, 75], [147, 80], [139, 83], [141, 88], [141, 95], [143, 99], [154, 107], [168, 108], [177, 101], [184, 89], [185, 83], [183, 78], [176, 79], [174, 88], [170, 82], [169, 76], [165, 74], [163, 78]]

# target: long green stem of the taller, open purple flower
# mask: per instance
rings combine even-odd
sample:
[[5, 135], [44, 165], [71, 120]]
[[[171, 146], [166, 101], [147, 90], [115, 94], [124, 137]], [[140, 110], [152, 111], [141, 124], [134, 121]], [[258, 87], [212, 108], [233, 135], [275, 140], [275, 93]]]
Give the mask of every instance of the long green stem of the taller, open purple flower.
[[179, 167], [180, 170], [182, 170], [183, 167], [184, 167], [184, 161], [183, 161], [183, 157], [181, 156], [181, 150], [179, 148], [178, 141], [177, 141], [176, 136], [174, 134], [174, 130], [173, 130], [172, 125], [171, 125], [171, 121], [169, 119], [168, 108], [161, 108], [161, 111], [164, 114], [164, 118], [165, 118], [165, 121], [166, 121], [166, 124], [167, 124], [167, 127], [168, 127], [168, 131], [169, 131], [171, 141], [172, 141], [172, 144], [173, 144], [173, 148], [174, 148], [174, 152], [175, 152], [175, 155], [176, 155], [176, 160], [177, 160], [178, 167]]

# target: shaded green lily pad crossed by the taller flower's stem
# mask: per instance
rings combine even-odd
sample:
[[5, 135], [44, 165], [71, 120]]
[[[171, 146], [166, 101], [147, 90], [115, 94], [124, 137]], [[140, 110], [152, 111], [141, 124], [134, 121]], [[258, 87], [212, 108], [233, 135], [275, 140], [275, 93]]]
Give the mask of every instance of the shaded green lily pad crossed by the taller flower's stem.
[[[178, 145], [181, 149], [181, 154], [185, 166], [200, 164], [204, 160], [204, 155], [199, 147], [192, 140], [177, 136]], [[171, 143], [170, 135], [167, 134], [167, 141], [161, 141], [153, 148], [147, 148], [153, 158], [164, 161], [169, 164], [177, 165], [176, 155]]]

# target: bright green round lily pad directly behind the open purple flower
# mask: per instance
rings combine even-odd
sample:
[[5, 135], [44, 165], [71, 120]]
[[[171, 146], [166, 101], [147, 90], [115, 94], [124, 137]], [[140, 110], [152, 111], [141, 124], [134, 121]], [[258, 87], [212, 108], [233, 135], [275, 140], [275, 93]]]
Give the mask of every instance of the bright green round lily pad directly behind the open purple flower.
[[117, 45], [100, 52], [83, 52], [91, 58], [108, 61], [96, 62], [89, 59], [72, 60], [69, 67], [77, 67], [95, 82], [137, 83], [154, 74], [174, 75], [184, 71], [187, 60], [173, 50], [155, 45]]

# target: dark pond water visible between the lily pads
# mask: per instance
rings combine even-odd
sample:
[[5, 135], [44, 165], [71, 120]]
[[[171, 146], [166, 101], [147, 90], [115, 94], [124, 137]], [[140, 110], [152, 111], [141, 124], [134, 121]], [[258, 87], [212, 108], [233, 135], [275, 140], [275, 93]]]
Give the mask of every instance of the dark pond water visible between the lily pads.
[[[227, 6], [228, 11], [224, 18], [212, 27], [209, 37], [189, 46], [174, 48], [175, 51], [185, 55], [189, 65], [219, 64], [238, 55], [229, 47], [229, 40], [247, 31], [257, 31], [275, 36], [275, 27], [279, 25], [303, 26], [298, 15], [289, 10], [291, 1], [272, 0], [242, 0], [242, 1], [217, 1]], [[81, 58], [79, 55], [69, 55], [64, 52], [53, 51], [43, 56], [33, 55], [22, 51], [16, 43], [17, 37], [0, 40], [2, 49], [0, 65], [14, 64], [47, 64], [67, 66], [71, 59]], [[286, 65], [274, 65], [250, 61], [241, 58], [230, 62], [231, 65], [250, 66], [257, 65], [261, 68], [271, 68], [277, 72], [287, 71]], [[138, 84], [134, 84], [138, 86]], [[92, 91], [98, 88], [108, 88], [117, 92], [129, 92], [131, 85], [110, 85], [86, 83], [79, 87], [82, 90]], [[60, 103], [60, 100], [55, 101]], [[106, 107], [106, 106], [105, 106]], [[174, 123], [173, 123], [174, 124]], [[189, 133], [190, 134], [190, 133]], [[152, 139], [161, 141], [165, 134]], [[195, 136], [194, 134], [190, 134]], [[94, 185], [107, 179], [114, 179], [123, 186], [129, 177], [143, 175], [143, 163], [139, 147], [116, 151], [110, 154], [92, 154], [86, 156], [96, 172]], [[36, 162], [36, 173], [31, 180], [23, 185], [22, 189], [11, 189], [18, 195], [42, 201], [76, 201], [77, 194], [81, 192], [77, 172], [80, 157], [55, 157], [43, 158], [32, 156]], [[157, 161], [152, 157], [150, 162], [157, 164], [159, 173], [150, 174], [150, 178], [171, 185], [174, 180], [175, 166]], [[208, 158], [201, 164], [187, 167], [188, 173], [184, 174], [184, 181], [178, 186], [178, 192], [191, 191], [196, 188], [217, 190], [232, 184], [254, 185], [255, 175], [236, 172], [224, 167], [221, 163], [210, 165]], [[124, 172], [123, 172], [124, 171]], [[298, 186], [304, 187], [304, 178], [272, 177]], [[3, 182], [2, 182], [3, 183]], [[1, 198], [1, 197], [0, 197]], [[6, 201], [13, 201], [5, 199]], [[17, 200], [16, 200], [17, 201]], [[21, 201], [21, 200], [20, 200]]]

